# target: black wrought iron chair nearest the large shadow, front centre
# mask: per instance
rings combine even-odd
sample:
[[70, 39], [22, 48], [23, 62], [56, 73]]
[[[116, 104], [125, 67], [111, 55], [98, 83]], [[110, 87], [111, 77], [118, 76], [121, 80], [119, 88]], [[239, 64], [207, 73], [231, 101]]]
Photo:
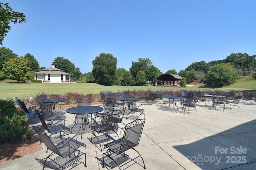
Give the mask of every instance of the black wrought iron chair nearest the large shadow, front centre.
[[[142, 156], [140, 153], [134, 149], [134, 147], [139, 145], [140, 137], [142, 135], [142, 130], [144, 127], [145, 119], [136, 119], [132, 121], [131, 123], [128, 123], [124, 130], [124, 135], [120, 139], [114, 139], [110, 135], [108, 137], [112, 139], [111, 141], [108, 141], [108, 143], [104, 144], [104, 149], [107, 148], [106, 153], [102, 154], [102, 167], [104, 168], [107, 166], [106, 164], [106, 158], [108, 157], [110, 159], [109, 166], [111, 168], [114, 168], [118, 166], [118, 168], [121, 170], [121, 167], [127, 164], [128, 162], [122, 162], [124, 164], [120, 164], [120, 159], [126, 158], [126, 160], [130, 160], [129, 162], [133, 161], [135, 163], [138, 163], [135, 161], [136, 158], [139, 158]], [[133, 149], [138, 153], [138, 156], [135, 158], [130, 158], [130, 156], [127, 156], [126, 151], [129, 149]], [[142, 158], [143, 162], [143, 168], [146, 169], [144, 160]], [[138, 163], [139, 164], [139, 163]]]

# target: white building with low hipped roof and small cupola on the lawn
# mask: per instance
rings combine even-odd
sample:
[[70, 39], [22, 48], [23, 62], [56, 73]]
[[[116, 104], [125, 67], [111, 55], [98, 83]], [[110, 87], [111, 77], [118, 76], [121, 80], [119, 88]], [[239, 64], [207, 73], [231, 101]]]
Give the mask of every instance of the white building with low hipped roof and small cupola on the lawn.
[[43, 69], [39, 72], [34, 72], [34, 79], [35, 80], [42, 80], [44, 83], [65, 83], [70, 82], [70, 75], [69, 73], [64, 72], [55, 66], [51, 68]]

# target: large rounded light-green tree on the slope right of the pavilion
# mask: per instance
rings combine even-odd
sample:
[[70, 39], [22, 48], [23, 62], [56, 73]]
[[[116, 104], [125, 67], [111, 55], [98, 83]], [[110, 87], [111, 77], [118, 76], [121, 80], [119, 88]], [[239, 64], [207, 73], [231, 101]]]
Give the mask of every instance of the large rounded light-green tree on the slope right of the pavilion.
[[206, 74], [207, 81], [213, 86], [232, 84], [238, 78], [236, 69], [230, 63], [220, 63], [210, 68]]

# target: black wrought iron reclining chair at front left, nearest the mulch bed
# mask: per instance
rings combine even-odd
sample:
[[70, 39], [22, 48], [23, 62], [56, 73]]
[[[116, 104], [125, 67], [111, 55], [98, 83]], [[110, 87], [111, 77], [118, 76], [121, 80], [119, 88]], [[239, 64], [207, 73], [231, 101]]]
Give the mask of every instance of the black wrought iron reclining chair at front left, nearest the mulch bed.
[[[46, 147], [52, 151], [52, 153], [49, 154], [48, 157], [45, 159], [43, 169], [46, 167], [47, 164], [50, 164], [50, 166], [57, 165], [60, 166], [62, 169], [68, 168], [70, 166], [74, 168], [81, 163], [83, 163], [84, 167], [86, 167], [86, 153], [79, 150], [80, 147], [84, 147], [85, 149], [86, 145], [77, 141], [78, 134], [71, 138], [68, 134], [62, 131], [62, 133], [60, 133], [60, 136], [52, 141], [53, 139], [50, 139], [44, 131], [35, 126], [33, 126], [33, 128], [42, 139]], [[81, 161], [82, 155], [84, 155], [84, 162]], [[50, 160], [50, 162], [47, 162], [48, 159]], [[55, 164], [51, 163], [51, 161]], [[62, 164], [63, 162], [64, 164]], [[54, 168], [58, 169], [60, 167]]]

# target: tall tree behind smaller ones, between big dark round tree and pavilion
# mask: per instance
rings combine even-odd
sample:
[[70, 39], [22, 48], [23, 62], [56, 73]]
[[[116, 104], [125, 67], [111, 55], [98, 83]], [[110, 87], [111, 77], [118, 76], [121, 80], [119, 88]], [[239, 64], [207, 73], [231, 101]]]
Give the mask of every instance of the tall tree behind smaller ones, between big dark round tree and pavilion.
[[138, 71], [146, 71], [148, 66], [151, 66], [152, 62], [150, 59], [146, 58], [146, 59], [142, 59], [139, 58], [138, 62], [133, 62], [132, 61], [132, 67], [130, 68], [130, 72], [132, 74], [133, 77], [136, 77]]

